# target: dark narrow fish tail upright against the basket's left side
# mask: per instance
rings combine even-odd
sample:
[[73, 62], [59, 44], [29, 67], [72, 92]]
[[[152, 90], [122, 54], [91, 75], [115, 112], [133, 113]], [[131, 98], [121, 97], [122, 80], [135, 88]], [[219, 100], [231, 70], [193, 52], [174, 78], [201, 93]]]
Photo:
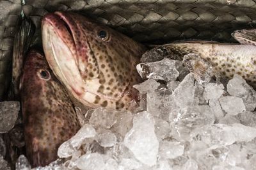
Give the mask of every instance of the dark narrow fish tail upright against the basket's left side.
[[31, 45], [35, 29], [33, 21], [23, 14], [20, 27], [13, 40], [12, 91], [14, 97], [19, 96], [19, 79], [22, 74], [24, 56]]

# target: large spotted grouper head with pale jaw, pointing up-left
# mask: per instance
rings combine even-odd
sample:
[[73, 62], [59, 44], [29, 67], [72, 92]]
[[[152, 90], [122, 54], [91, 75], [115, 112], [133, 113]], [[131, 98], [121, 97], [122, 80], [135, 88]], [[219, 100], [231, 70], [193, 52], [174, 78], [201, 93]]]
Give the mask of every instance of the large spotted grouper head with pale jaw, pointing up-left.
[[88, 107], [131, 109], [145, 47], [113, 29], [67, 12], [42, 20], [45, 57], [68, 91]]

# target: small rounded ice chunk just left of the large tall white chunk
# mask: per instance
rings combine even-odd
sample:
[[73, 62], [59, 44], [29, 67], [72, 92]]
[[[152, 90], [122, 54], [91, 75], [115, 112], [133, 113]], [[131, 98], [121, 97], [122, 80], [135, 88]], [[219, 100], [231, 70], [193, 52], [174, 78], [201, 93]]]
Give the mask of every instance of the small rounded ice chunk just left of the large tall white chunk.
[[116, 144], [116, 135], [110, 130], [102, 134], [100, 133], [97, 135], [97, 142], [104, 148], [114, 146]]

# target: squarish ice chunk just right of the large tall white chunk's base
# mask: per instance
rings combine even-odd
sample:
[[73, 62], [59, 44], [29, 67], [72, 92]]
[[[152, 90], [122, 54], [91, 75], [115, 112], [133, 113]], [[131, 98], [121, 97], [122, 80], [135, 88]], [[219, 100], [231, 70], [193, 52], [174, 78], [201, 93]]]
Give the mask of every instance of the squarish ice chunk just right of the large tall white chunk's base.
[[184, 144], [179, 142], [161, 141], [159, 155], [163, 158], [176, 158], [184, 153]]

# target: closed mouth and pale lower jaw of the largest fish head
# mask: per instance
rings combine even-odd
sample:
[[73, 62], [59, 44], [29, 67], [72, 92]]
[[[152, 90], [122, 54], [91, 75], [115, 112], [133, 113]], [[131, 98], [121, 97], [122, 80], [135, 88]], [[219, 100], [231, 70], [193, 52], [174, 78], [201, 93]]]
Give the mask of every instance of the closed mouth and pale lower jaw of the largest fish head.
[[76, 23], [61, 12], [49, 13], [42, 19], [42, 42], [49, 66], [56, 77], [77, 96], [83, 93], [83, 79], [79, 72]]

